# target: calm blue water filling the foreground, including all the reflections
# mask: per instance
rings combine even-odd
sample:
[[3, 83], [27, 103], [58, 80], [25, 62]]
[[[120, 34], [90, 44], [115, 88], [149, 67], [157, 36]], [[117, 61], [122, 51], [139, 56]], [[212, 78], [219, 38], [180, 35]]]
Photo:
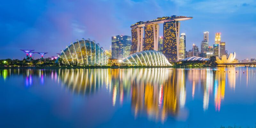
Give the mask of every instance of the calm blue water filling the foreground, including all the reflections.
[[0, 70], [0, 127], [255, 126], [256, 68]]

